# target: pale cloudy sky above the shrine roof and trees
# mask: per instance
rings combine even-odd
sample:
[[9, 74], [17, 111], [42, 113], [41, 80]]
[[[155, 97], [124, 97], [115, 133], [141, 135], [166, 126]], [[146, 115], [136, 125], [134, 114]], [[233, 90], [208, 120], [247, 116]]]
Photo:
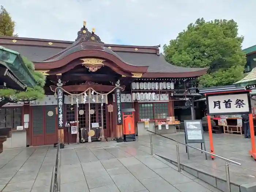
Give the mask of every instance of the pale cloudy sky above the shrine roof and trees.
[[[1, 0], [19, 37], [74, 41], [86, 27], [106, 44], [168, 44], [197, 18], [234, 19], [243, 48], [256, 45], [255, 0]], [[162, 49], [161, 49], [162, 50]]]

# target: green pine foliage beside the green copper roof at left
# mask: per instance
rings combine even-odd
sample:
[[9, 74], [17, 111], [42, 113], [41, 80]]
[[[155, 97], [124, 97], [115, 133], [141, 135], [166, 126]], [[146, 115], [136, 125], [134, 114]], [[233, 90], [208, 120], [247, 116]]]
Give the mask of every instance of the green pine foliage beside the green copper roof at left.
[[28, 87], [26, 92], [16, 91], [13, 89], [0, 89], [0, 106], [3, 106], [8, 102], [33, 101], [36, 99], [42, 99], [45, 96], [45, 75], [42, 72], [35, 71], [34, 64], [26, 57], [22, 57], [22, 59], [33, 75], [37, 85], [33, 88]]

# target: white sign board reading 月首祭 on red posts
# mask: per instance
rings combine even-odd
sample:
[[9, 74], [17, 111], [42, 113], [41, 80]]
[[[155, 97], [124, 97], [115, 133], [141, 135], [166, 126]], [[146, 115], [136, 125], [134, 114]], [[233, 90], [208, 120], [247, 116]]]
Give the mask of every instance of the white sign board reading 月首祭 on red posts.
[[208, 115], [251, 113], [249, 93], [207, 95]]

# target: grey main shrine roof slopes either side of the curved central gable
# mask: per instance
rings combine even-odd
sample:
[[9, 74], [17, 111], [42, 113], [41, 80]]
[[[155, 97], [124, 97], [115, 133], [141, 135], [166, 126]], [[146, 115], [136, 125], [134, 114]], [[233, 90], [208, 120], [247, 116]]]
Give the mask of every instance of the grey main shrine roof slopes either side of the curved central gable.
[[[0, 39], [2, 37], [0, 37]], [[21, 37], [3, 37], [3, 39], [6, 40], [4, 44], [7, 45], [7, 48], [14, 49], [20, 53], [23, 52], [22, 54], [24, 56], [33, 60], [35, 62], [35, 68], [37, 68], [36, 63], [38, 63], [38, 61], [47, 61], [49, 58], [54, 59], [55, 57], [59, 57], [65, 52], [65, 50], [71, 49], [75, 44], [72, 41], [57, 41], [52, 39]], [[16, 42], [12, 41], [14, 39]], [[22, 42], [24, 39], [26, 43]], [[29, 42], [31, 42], [31, 44], [29, 44]], [[38, 46], [38, 42], [42, 42], [44, 46]], [[52, 42], [53, 44], [49, 45], [49, 42]], [[153, 76], [154, 78], [197, 77], [205, 74], [208, 70], [208, 68], [185, 68], [169, 64], [162, 55], [158, 54], [159, 46], [103, 45], [105, 49], [110, 49], [116, 57], [120, 57], [127, 64], [134, 65], [136, 67], [149, 66], [147, 72], [142, 76], [146, 78]], [[24, 49], [25, 46], [26, 48]]]

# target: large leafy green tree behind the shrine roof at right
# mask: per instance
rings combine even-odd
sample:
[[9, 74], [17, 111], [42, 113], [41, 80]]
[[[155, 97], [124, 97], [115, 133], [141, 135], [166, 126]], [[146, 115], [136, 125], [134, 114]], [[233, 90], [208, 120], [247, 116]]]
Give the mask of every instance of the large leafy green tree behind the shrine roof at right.
[[209, 67], [199, 78], [202, 87], [230, 85], [244, 77], [246, 56], [234, 20], [203, 18], [188, 25], [163, 46], [166, 61], [180, 67]]

